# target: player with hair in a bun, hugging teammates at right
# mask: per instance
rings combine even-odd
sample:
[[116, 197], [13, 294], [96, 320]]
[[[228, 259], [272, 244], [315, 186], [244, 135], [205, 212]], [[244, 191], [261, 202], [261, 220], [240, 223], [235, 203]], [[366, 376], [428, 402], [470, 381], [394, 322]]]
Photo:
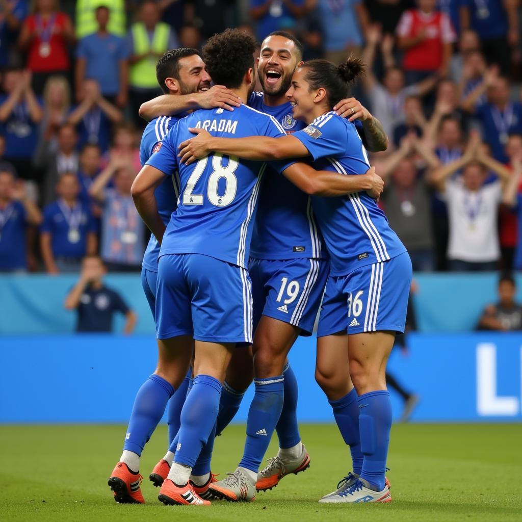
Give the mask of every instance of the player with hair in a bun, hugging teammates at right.
[[[323, 60], [305, 63], [288, 91], [293, 116], [307, 123], [302, 131], [277, 139], [235, 140], [197, 131], [199, 136], [182, 144], [182, 160], [191, 162], [211, 151], [257, 160], [311, 156], [316, 169], [360, 172], [369, 167], [360, 136], [330, 109], [346, 97], [349, 83], [362, 70], [353, 58], [339, 67]], [[396, 332], [404, 332], [411, 262], [384, 213], [366, 194], [314, 197], [313, 208], [330, 256], [316, 379], [353, 460], [353, 473], [320, 502], [388, 502], [385, 469], [392, 412], [385, 368]]]

